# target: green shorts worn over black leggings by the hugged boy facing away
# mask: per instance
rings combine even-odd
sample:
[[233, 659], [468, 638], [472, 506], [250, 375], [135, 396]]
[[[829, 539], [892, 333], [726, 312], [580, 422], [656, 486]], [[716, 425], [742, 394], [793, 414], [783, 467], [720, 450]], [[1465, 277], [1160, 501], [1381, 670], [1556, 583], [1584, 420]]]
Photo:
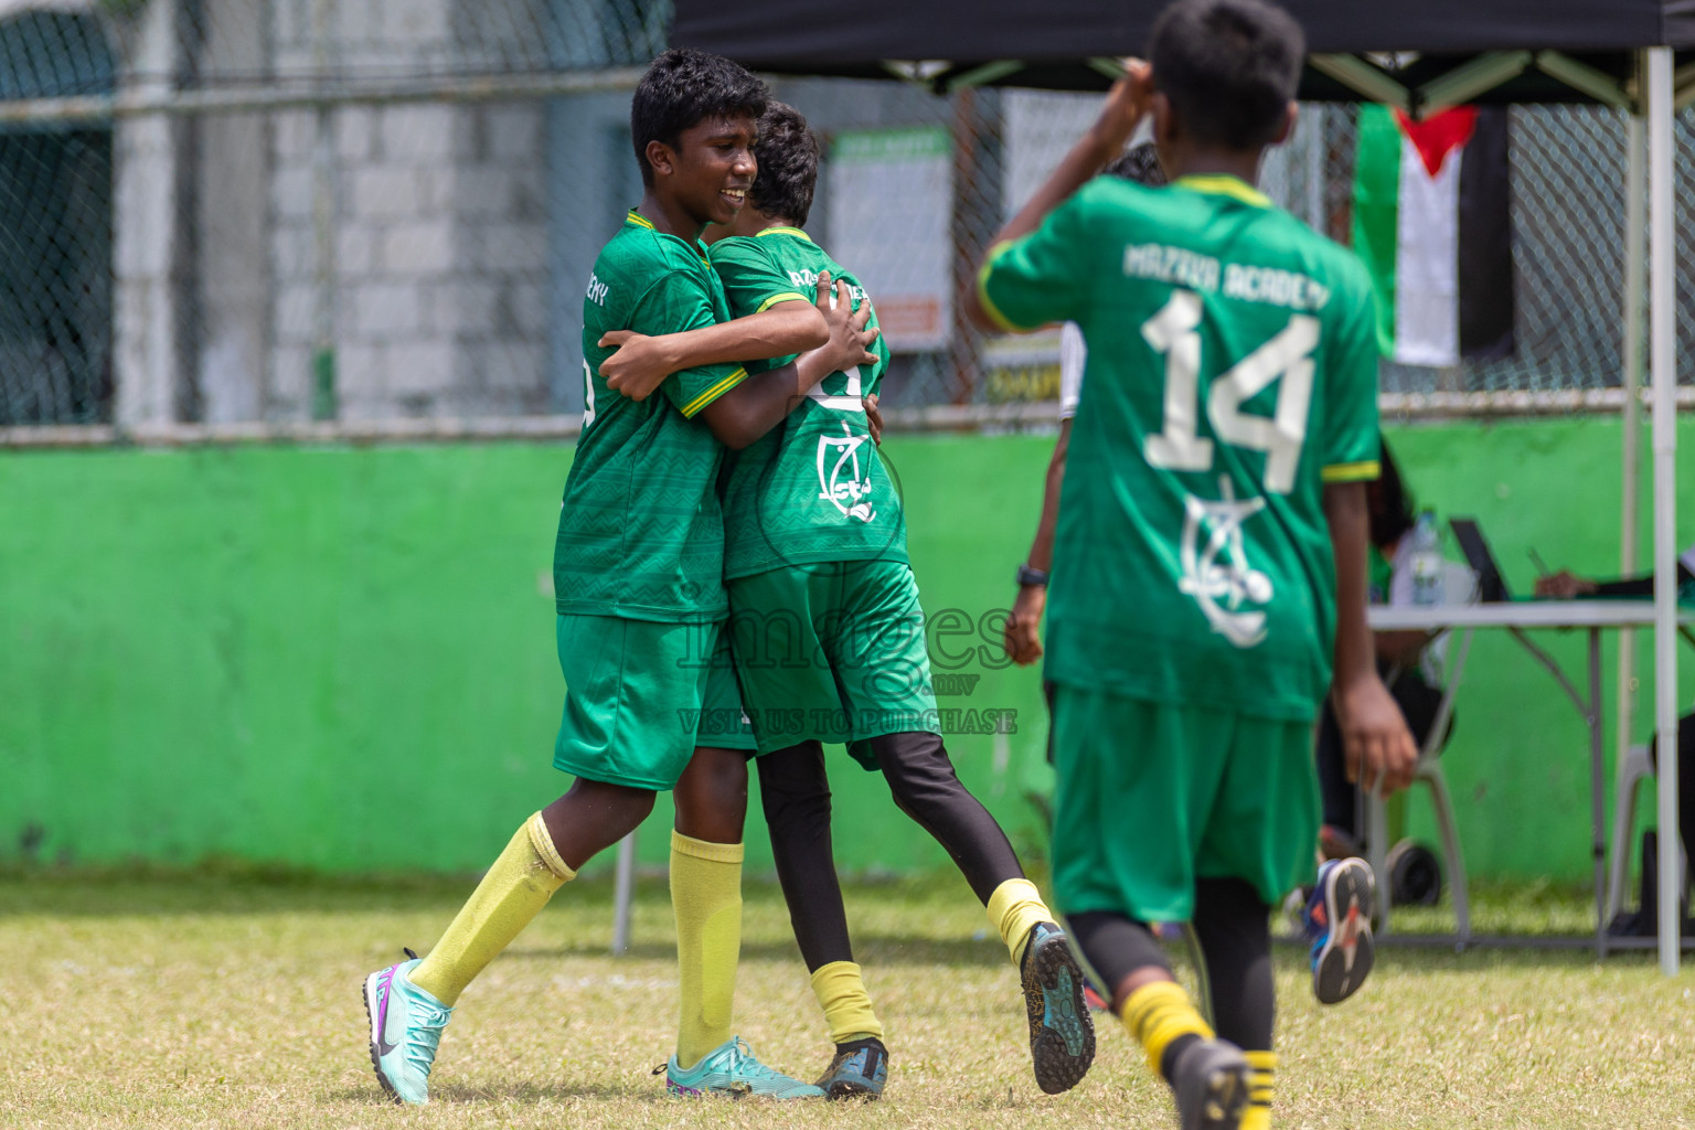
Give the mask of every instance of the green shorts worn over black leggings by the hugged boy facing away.
[[725, 581], [736, 673], [761, 754], [937, 734], [924, 608], [903, 561], [837, 561]]

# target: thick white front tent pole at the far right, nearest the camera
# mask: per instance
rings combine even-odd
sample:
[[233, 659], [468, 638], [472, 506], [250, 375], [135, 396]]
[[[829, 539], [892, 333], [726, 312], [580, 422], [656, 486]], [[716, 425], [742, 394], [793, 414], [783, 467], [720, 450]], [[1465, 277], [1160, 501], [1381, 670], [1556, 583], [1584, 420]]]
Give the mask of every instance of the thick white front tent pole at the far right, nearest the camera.
[[1659, 971], [1681, 957], [1678, 913], [1676, 222], [1671, 47], [1648, 51], [1649, 379], [1654, 393], [1654, 732], [1659, 757]]

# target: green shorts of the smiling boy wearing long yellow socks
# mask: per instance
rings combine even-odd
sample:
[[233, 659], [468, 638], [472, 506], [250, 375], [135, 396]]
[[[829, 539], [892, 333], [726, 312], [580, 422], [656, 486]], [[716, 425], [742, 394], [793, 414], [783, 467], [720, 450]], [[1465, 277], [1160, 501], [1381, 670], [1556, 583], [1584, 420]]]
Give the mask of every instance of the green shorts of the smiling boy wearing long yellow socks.
[[664, 791], [697, 744], [751, 751], [720, 629], [561, 615], [554, 634], [566, 690], [554, 769]]

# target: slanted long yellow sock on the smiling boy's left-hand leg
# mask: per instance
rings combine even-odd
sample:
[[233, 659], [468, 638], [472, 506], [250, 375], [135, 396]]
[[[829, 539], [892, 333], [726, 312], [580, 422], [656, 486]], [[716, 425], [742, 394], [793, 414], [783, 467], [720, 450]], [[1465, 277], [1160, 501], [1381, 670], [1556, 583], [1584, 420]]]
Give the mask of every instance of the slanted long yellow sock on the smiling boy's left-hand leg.
[[537, 811], [500, 852], [408, 981], [451, 1008], [471, 978], [512, 944], [554, 891], [575, 878], [576, 872], [554, 850]]

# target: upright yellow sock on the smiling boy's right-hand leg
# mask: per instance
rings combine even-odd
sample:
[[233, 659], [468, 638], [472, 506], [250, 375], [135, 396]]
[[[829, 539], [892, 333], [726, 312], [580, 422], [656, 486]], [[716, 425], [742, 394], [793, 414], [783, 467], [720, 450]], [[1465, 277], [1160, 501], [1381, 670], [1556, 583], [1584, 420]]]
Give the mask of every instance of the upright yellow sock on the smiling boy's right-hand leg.
[[671, 832], [680, 1067], [693, 1067], [731, 1039], [741, 959], [741, 844], [709, 844]]

